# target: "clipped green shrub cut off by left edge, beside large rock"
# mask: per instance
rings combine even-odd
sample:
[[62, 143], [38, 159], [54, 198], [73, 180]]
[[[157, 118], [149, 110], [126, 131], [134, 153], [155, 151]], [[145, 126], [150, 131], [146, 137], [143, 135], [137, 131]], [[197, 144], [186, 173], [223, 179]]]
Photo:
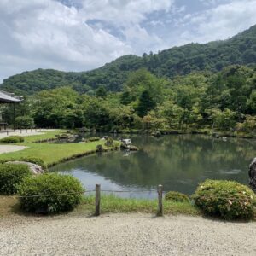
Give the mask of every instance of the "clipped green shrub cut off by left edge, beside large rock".
[[16, 186], [29, 176], [32, 176], [32, 172], [26, 165], [0, 164], [0, 193], [15, 194]]

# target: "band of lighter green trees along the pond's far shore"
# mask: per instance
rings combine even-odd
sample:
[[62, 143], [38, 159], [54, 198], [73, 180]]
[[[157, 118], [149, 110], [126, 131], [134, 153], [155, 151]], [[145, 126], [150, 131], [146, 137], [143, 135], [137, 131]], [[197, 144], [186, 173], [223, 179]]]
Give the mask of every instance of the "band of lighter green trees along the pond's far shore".
[[[3, 110], [10, 119], [11, 108]], [[17, 106], [19, 119], [38, 127], [97, 131], [187, 130], [253, 131], [256, 127], [256, 68], [225, 67], [219, 73], [196, 72], [173, 79], [147, 69], [128, 76], [123, 90], [98, 87], [82, 94], [72, 86], [42, 90]]]

